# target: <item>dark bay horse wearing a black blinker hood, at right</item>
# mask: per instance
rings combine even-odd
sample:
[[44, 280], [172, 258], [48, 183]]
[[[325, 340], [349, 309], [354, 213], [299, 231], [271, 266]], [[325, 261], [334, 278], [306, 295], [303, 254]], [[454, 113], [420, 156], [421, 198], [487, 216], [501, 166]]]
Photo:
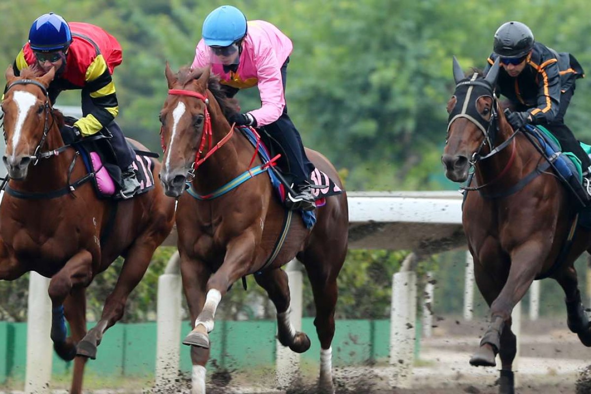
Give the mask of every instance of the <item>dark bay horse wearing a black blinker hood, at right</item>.
[[514, 393], [511, 365], [517, 349], [511, 311], [534, 279], [550, 277], [560, 284], [569, 328], [591, 346], [573, 266], [590, 249], [591, 238], [583, 227], [575, 227], [577, 204], [551, 168], [546, 170], [548, 162], [524, 132], [514, 132], [506, 121], [493, 94], [498, 61], [486, 77], [474, 73], [466, 78], [456, 58], [453, 70], [456, 90], [447, 103], [441, 160], [446, 177], [455, 182], [466, 181], [474, 168], [462, 222], [476, 284], [491, 308], [491, 323], [470, 364], [495, 366], [499, 354], [499, 392]]

